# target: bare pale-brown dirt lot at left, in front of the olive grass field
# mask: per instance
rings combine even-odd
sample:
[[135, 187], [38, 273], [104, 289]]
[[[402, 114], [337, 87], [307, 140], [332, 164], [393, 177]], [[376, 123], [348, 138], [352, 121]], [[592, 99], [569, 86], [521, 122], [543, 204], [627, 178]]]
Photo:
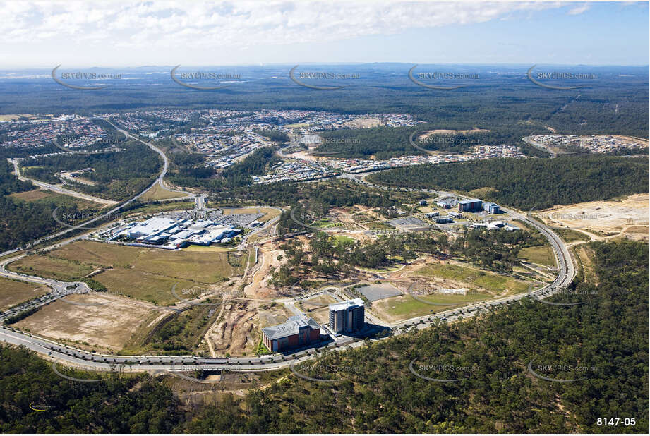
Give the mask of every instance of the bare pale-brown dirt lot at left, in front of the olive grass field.
[[152, 304], [113, 295], [71, 295], [66, 300], [101, 305], [58, 300], [17, 322], [16, 327], [52, 339], [83, 341], [97, 349], [119, 351], [131, 335], [152, 327], [150, 322], [161, 314]]

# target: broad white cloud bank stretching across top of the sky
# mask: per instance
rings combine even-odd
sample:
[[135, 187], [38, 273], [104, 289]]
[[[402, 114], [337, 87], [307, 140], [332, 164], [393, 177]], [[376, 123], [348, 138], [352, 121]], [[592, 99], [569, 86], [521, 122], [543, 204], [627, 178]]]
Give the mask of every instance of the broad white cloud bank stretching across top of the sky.
[[[517, 11], [560, 7], [548, 3], [385, 0], [6, 1], [0, 5], [4, 44], [40, 44], [54, 37], [123, 49], [190, 45], [210, 49], [340, 41], [395, 35], [412, 28], [483, 23]], [[579, 6], [570, 13], [588, 7]]]

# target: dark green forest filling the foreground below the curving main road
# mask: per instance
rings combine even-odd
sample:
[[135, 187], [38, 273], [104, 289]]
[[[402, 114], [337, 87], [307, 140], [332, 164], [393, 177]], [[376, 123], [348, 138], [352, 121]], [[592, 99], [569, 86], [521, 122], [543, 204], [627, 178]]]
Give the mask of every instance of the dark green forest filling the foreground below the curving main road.
[[[327, 378], [332, 373], [320, 374], [319, 368], [338, 365], [337, 382], [289, 375], [243, 399], [222, 396], [217, 406], [199, 411], [184, 408], [162, 382], [144, 376], [74, 383], [32, 353], [1, 348], [0, 430], [647, 433], [649, 247], [589, 246], [597, 280], [577, 283], [574, 291], [582, 295], [553, 297], [584, 304], [525, 299], [465, 322], [411, 327], [299, 368]], [[577, 381], [541, 380], [527, 369], [531, 361], [539, 375]], [[455, 368], [452, 377], [460, 380], [423, 380], [409, 371], [411, 362], [428, 377], [450, 378], [449, 371], [428, 369], [434, 364]], [[558, 368], [544, 369], [548, 365]], [[29, 404], [47, 410], [32, 411]], [[598, 420], [613, 417], [635, 423]]]

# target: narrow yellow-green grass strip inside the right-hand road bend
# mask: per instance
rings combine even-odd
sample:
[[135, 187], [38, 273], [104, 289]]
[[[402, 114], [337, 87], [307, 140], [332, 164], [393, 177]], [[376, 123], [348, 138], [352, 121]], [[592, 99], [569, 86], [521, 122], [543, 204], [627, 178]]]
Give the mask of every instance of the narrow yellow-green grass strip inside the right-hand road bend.
[[526, 281], [462, 265], [437, 263], [417, 270], [416, 274], [461, 281], [462, 283], [471, 285], [468, 287], [479, 287], [497, 294], [507, 290], [506, 295], [512, 295], [514, 293], [525, 292], [528, 289], [528, 283]]

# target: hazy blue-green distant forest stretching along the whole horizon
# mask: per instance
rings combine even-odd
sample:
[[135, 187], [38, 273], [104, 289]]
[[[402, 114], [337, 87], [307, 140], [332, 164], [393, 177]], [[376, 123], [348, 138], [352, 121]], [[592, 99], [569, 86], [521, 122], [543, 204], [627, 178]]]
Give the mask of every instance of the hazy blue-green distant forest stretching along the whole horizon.
[[[126, 68], [131, 76], [128, 83], [117, 80], [110, 88], [92, 93], [73, 94], [49, 77], [1, 80], [0, 106], [6, 114], [89, 115], [161, 107], [407, 113], [438, 128], [517, 128], [520, 123], [533, 123], [536, 129], [550, 126], [559, 133], [648, 136], [648, 71], [644, 67], [591, 66], [598, 81], [579, 92], [548, 92], [526, 78], [530, 66], [524, 65], [445, 65], [446, 71], [476, 73], [480, 80], [461, 90], [429, 90], [409, 80], [412, 65], [405, 63], [313, 65], [360, 77], [345, 89], [318, 92], [293, 83], [289, 78], [291, 67], [238, 66], [236, 71], [245, 83], [210, 92], [180, 87], [169, 78], [169, 68], [157, 67]], [[421, 65], [418, 70], [427, 68], [440, 66]], [[49, 73], [42, 72], [47, 76]]]

